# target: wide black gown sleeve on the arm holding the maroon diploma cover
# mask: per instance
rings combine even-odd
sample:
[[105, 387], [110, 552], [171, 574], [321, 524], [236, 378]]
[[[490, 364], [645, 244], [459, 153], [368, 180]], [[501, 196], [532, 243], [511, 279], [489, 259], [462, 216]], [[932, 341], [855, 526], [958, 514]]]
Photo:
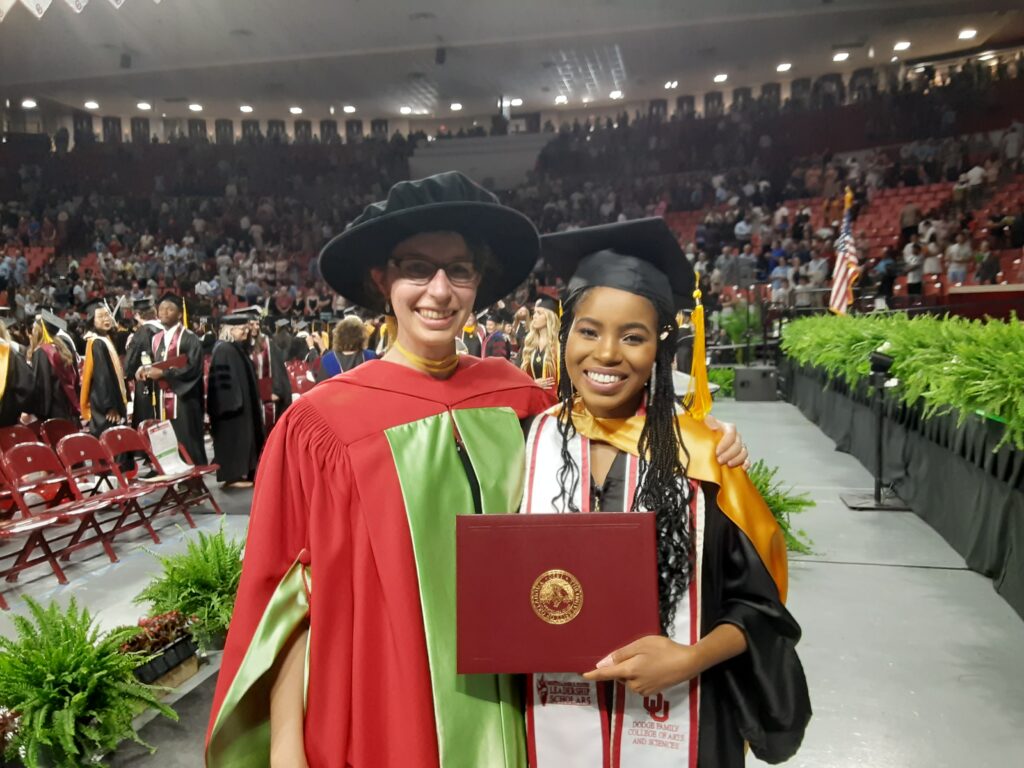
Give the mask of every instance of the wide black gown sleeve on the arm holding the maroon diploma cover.
[[807, 680], [797, 656], [800, 626], [779, 600], [775, 582], [746, 535], [721, 511], [713, 514], [722, 545], [721, 605], [714, 624], [738, 627], [748, 644], [745, 653], [720, 666], [723, 692], [754, 754], [766, 763], [781, 763], [796, 754], [811, 719]]

